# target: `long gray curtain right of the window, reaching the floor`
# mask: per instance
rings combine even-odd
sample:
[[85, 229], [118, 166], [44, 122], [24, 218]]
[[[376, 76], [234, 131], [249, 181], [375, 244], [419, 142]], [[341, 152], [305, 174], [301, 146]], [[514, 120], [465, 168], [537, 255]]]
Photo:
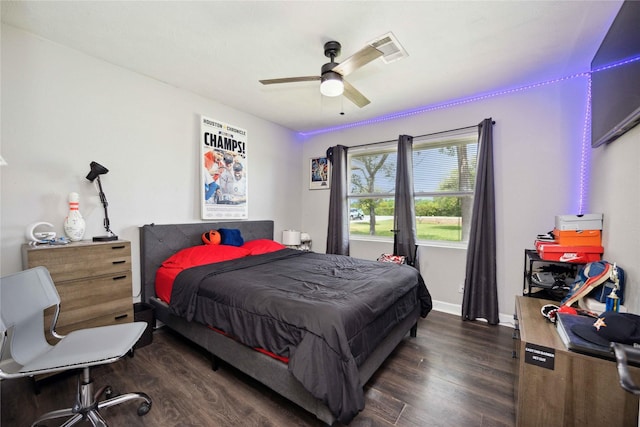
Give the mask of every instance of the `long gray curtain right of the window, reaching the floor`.
[[478, 168], [473, 199], [473, 217], [467, 250], [467, 268], [462, 298], [464, 320], [500, 321], [496, 283], [496, 215], [493, 184], [493, 121], [478, 125]]

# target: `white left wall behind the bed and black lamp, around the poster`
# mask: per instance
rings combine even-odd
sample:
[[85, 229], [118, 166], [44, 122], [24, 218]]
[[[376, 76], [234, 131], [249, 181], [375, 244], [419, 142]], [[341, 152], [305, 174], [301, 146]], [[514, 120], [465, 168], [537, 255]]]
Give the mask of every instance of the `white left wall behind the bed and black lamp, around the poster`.
[[95, 160], [109, 169], [111, 228], [132, 242], [137, 295], [138, 227], [200, 221], [201, 114], [248, 131], [249, 218], [275, 220], [276, 236], [300, 228], [302, 169], [274, 167], [299, 164], [290, 130], [4, 24], [1, 89], [1, 274], [21, 269], [29, 224], [48, 221], [63, 235], [71, 191], [80, 193], [85, 238], [104, 234], [85, 179]]

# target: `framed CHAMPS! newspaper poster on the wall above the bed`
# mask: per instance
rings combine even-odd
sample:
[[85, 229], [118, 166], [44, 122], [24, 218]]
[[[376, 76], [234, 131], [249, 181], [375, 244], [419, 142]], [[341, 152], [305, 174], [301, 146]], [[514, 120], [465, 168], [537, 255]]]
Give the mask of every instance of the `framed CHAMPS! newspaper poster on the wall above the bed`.
[[247, 219], [247, 131], [202, 117], [202, 219]]

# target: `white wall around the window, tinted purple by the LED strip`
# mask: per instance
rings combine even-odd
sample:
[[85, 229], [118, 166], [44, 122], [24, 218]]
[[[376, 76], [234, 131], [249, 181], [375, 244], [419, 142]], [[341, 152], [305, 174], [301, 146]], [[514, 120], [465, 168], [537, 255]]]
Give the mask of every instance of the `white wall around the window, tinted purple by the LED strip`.
[[[512, 319], [514, 296], [522, 294], [523, 251], [535, 236], [553, 229], [556, 214], [577, 213], [580, 149], [585, 117], [586, 80], [576, 78], [482, 101], [414, 115], [402, 120], [350, 128], [311, 138], [304, 157], [329, 146], [396, 139], [476, 125], [492, 117], [497, 222], [499, 309]], [[302, 227], [314, 248], [326, 247], [328, 192], [303, 191]], [[375, 259], [391, 244], [352, 241], [351, 255]], [[458, 314], [462, 302], [466, 250], [427, 247], [421, 272], [436, 307]]]

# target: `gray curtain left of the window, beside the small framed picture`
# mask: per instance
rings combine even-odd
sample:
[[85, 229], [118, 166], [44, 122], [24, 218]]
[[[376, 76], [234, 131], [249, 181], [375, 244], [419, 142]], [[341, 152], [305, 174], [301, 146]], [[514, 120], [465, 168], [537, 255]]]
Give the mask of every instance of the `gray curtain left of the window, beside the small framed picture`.
[[327, 150], [331, 162], [329, 227], [327, 253], [349, 255], [349, 206], [347, 205], [347, 147], [336, 145]]

